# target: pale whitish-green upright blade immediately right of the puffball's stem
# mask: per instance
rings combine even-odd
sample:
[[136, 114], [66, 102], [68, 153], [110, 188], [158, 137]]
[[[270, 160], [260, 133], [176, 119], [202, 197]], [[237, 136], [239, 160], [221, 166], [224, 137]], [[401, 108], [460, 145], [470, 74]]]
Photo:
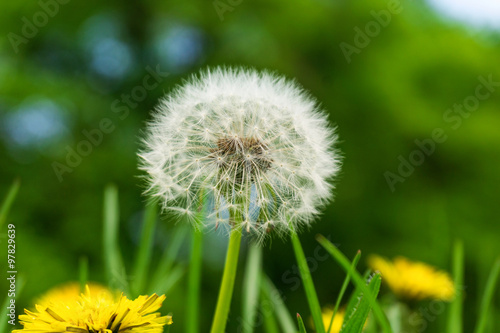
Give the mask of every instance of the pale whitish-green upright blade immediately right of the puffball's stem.
[[250, 243], [243, 279], [243, 332], [252, 333], [259, 303], [260, 277], [262, 270], [262, 247]]

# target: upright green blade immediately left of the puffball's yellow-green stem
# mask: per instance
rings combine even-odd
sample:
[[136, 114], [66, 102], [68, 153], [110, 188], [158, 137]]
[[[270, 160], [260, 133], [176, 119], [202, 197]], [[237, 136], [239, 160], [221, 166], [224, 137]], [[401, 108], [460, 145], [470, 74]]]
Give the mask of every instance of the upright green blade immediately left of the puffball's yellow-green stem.
[[194, 229], [191, 241], [191, 259], [189, 261], [188, 291], [187, 291], [187, 312], [189, 320], [186, 322], [187, 333], [199, 332], [199, 311], [200, 308], [200, 283], [201, 266], [203, 254], [203, 233]]

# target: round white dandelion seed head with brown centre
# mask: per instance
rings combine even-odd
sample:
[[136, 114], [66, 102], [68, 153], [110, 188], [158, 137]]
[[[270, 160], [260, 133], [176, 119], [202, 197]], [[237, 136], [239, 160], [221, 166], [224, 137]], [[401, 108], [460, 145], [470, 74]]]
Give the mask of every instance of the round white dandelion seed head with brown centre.
[[166, 210], [263, 236], [309, 225], [331, 199], [336, 140], [295, 82], [216, 68], [161, 100], [139, 156]]

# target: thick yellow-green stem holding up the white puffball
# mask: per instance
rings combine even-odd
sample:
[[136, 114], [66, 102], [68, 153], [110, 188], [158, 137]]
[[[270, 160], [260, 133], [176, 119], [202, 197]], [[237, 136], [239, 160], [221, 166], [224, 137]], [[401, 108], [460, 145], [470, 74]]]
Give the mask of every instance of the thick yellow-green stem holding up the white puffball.
[[233, 296], [234, 280], [236, 278], [236, 268], [238, 266], [238, 256], [240, 253], [241, 229], [235, 226], [231, 231], [229, 246], [227, 249], [226, 264], [222, 275], [222, 283], [219, 291], [219, 299], [215, 309], [214, 321], [212, 322], [211, 333], [224, 333], [226, 328], [231, 297]]

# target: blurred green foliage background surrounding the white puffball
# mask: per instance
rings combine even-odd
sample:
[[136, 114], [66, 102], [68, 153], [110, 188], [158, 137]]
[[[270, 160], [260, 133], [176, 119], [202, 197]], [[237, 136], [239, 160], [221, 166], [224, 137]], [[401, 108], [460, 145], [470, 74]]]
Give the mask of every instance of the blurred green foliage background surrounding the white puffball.
[[[244, 65], [296, 78], [338, 126], [345, 159], [336, 199], [302, 233], [306, 255], [315, 258], [314, 236], [322, 233], [350, 257], [361, 249], [449, 270], [452, 243], [461, 238], [465, 332], [472, 330], [500, 253], [500, 87], [490, 87], [494, 91], [470, 113], [447, 110], [474, 101], [469, 97], [479, 77], [500, 81], [498, 31], [444, 19], [420, 1], [402, 2], [385, 26], [375, 17], [387, 21], [380, 13], [390, 13], [390, 5], [379, 0], [65, 1], [0, 4], [0, 194], [21, 180], [8, 219], [17, 228], [17, 267], [27, 280], [18, 313], [50, 287], [76, 280], [80, 256], [89, 258], [90, 278], [104, 282], [102, 201], [111, 182], [120, 191], [120, 241], [130, 265], [146, 200], [136, 152], [150, 110], [201, 68]], [[53, 15], [38, 14], [43, 11]], [[342, 43], [351, 45], [348, 57]], [[169, 75], [155, 88], [138, 88], [157, 68]], [[103, 119], [113, 129], [69, 167], [68, 151]], [[447, 139], [391, 188], [387, 172], [397, 174], [400, 156], [408, 160], [418, 149], [415, 140], [432, 138], [436, 128]], [[155, 256], [177, 227], [163, 218]], [[202, 327], [213, 315], [226, 243], [218, 233], [205, 237]], [[186, 244], [179, 261], [187, 262], [188, 249]], [[288, 309], [307, 316], [290, 242], [269, 240], [264, 266]], [[333, 303], [343, 272], [331, 259], [313, 260], [311, 269], [320, 301]], [[228, 332], [238, 326], [242, 275], [241, 269]], [[183, 313], [186, 284], [167, 295], [164, 307], [174, 315], [175, 332], [189, 320]], [[5, 279], [0, 286], [5, 290]], [[441, 317], [426, 332], [438, 332]]]

